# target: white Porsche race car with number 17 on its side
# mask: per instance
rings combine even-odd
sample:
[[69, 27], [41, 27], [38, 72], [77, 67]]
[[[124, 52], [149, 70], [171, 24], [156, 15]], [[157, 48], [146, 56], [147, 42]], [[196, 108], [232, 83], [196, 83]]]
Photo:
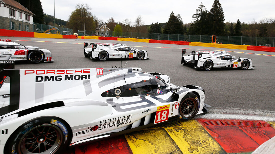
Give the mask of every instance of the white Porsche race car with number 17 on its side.
[[210, 71], [212, 68], [241, 68], [254, 69], [252, 67], [252, 60], [249, 58], [236, 58], [225, 51], [201, 51], [196, 50], [184, 56], [186, 49], [182, 50], [182, 64], [191, 64], [194, 68], [202, 68]]

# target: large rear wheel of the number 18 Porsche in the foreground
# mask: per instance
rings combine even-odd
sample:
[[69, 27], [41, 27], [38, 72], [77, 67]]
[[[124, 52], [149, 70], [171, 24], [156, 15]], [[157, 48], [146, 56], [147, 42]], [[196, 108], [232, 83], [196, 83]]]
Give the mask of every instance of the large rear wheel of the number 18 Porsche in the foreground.
[[69, 128], [65, 121], [56, 117], [30, 120], [12, 133], [4, 153], [62, 153], [72, 140]]

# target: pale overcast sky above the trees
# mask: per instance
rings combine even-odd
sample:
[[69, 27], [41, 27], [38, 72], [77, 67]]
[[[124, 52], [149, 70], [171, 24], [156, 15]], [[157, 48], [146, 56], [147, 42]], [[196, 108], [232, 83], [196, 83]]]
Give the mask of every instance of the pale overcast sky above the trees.
[[[54, 0], [40, 0], [44, 13], [54, 15]], [[76, 3], [88, 4], [92, 10], [90, 12], [103, 22], [111, 17], [115, 22], [123, 22], [130, 19], [132, 23], [141, 15], [142, 22], [149, 25], [155, 22], [167, 22], [171, 12], [180, 14], [183, 23], [193, 21], [192, 15], [196, 12], [200, 3], [205, 5], [210, 11], [214, 0], [56, 0], [55, 17], [67, 21], [72, 11], [75, 10]], [[259, 22], [263, 18], [275, 18], [275, 1], [273, 0], [219, 0], [224, 11], [224, 22], [250, 23], [253, 20]]]

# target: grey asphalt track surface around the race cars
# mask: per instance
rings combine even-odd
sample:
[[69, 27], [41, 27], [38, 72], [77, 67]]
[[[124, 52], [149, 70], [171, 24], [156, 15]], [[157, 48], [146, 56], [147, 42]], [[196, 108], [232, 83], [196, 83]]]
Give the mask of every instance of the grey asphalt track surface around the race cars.
[[[7, 37], [0, 37], [7, 38]], [[255, 69], [241, 70], [233, 68], [214, 68], [211, 71], [183, 66], [181, 48], [217, 50], [218, 48], [196, 47], [187, 45], [158, 44], [143, 42], [123, 42], [91, 39], [47, 39], [28, 37], [9, 37], [23, 45], [33, 45], [52, 52], [54, 62], [31, 64], [18, 62], [15, 69], [50, 69], [50, 68], [111, 68], [112, 66], [139, 67], [145, 72], [166, 74], [175, 85], [197, 85], [205, 89], [205, 103], [212, 106], [209, 114], [202, 118], [237, 118], [275, 121], [274, 86], [275, 55], [273, 52], [224, 49], [245, 53], [229, 52], [235, 57], [247, 57], [253, 60]], [[24, 41], [21, 41], [24, 40]], [[29, 40], [29, 41], [27, 41]], [[35, 42], [34, 42], [35, 41]], [[36, 42], [48, 41], [48, 42]], [[85, 42], [123, 43], [133, 48], [148, 51], [150, 59], [108, 59], [105, 62], [91, 60], [83, 56]], [[56, 43], [60, 42], [60, 43]], [[256, 116], [256, 117], [255, 117]]]

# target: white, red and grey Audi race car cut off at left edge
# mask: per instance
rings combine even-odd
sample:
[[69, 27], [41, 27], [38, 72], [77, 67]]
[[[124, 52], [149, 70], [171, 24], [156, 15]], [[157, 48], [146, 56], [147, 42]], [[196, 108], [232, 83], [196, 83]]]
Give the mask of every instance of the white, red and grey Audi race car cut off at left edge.
[[51, 51], [24, 46], [10, 39], [0, 39], [0, 60], [28, 60], [31, 63], [53, 62]]

